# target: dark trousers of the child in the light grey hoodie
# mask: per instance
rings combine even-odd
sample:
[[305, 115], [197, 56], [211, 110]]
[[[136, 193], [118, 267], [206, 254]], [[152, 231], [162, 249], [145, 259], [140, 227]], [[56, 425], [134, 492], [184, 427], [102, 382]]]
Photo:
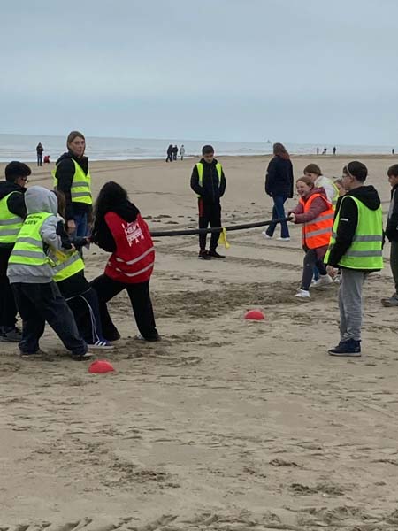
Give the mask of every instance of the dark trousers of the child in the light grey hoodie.
[[34, 354], [39, 350], [46, 321], [73, 355], [82, 356], [87, 352], [73, 313], [54, 281], [45, 284], [17, 282], [11, 287], [23, 322], [22, 340], [19, 342], [22, 352]]

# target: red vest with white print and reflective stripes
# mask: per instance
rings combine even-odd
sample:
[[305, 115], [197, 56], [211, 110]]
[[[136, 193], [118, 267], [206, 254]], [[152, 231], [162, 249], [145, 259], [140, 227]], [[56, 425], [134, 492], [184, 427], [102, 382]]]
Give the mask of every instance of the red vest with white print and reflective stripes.
[[125, 221], [115, 212], [105, 215], [116, 250], [105, 267], [105, 274], [114, 281], [138, 284], [149, 281], [155, 263], [155, 248], [148, 225], [138, 214], [135, 221]]

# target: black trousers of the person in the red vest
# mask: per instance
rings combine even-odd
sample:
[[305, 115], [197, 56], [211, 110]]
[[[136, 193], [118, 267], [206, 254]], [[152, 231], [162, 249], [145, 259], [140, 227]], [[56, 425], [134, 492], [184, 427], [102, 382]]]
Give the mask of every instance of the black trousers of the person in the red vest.
[[138, 284], [127, 284], [114, 281], [106, 274], [102, 274], [91, 282], [98, 297], [103, 337], [112, 341], [119, 336], [118, 329], [112, 322], [106, 303], [126, 289], [133, 307], [134, 318], [140, 334], [147, 340], [157, 337], [157, 328], [149, 296], [149, 281]]

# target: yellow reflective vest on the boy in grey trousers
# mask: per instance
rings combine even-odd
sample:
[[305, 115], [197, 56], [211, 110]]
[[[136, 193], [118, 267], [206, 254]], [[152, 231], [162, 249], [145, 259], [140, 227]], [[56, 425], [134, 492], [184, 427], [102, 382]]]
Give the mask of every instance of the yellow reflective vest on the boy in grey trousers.
[[[383, 241], [383, 212], [381, 205], [378, 210], [372, 211], [361, 201], [353, 196], [343, 196], [341, 204], [346, 197], [349, 197], [356, 203], [358, 209], [358, 223], [356, 225], [356, 234], [354, 235], [351, 245], [347, 252], [341, 257], [339, 266], [348, 267], [348, 269], [382, 269], [382, 241]], [[337, 212], [336, 219], [333, 223], [333, 233], [329, 244], [329, 249], [325, 254], [327, 263], [330, 251], [336, 242], [337, 228], [339, 227], [340, 212]]]

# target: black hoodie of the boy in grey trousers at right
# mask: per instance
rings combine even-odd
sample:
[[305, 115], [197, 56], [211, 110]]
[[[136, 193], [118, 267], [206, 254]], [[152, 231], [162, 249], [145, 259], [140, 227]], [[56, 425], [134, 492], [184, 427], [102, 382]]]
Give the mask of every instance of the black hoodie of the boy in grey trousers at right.
[[[361, 186], [359, 188], [350, 190], [345, 196], [341, 197], [338, 202], [335, 216], [340, 212], [339, 226], [336, 231], [336, 242], [330, 251], [327, 264], [329, 266], [338, 267], [338, 264], [347, 252], [354, 235], [356, 234], [356, 226], [358, 225], [358, 208], [356, 202], [349, 199], [349, 197], [356, 197], [361, 203], [372, 211], [377, 211], [380, 206], [380, 198], [377, 189], [374, 186]], [[344, 199], [344, 201], [342, 201]], [[380, 227], [381, 231], [381, 227]]]

